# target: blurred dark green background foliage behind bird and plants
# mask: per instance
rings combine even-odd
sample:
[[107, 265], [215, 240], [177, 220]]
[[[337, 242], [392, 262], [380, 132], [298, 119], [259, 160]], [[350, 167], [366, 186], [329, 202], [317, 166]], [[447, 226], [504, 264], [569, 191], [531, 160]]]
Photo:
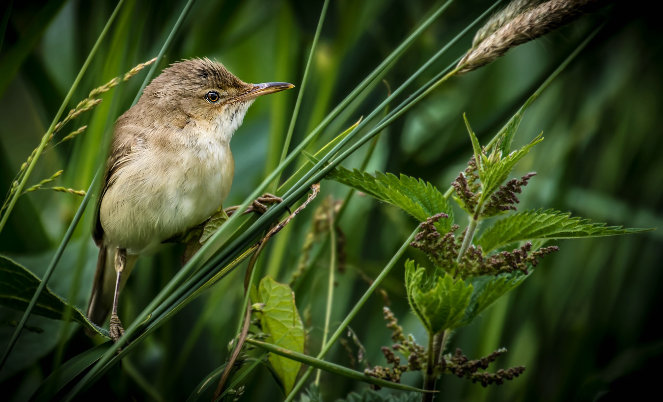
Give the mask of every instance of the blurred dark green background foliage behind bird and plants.
[[[127, 0], [68, 109], [94, 87], [155, 57], [185, 3]], [[107, 0], [13, 1], [0, 50], [2, 191], [9, 188], [46, 132], [115, 4]], [[332, 0], [293, 144], [440, 4]], [[3, 2], [3, 16], [8, 5]], [[389, 85], [400, 85], [489, 5], [489, 1], [456, 1], [385, 76]], [[299, 86], [321, 8], [320, 0], [198, 0], [159, 70], [182, 58], [207, 56], [245, 81], [288, 81]], [[444, 191], [471, 155], [462, 113], [467, 113], [479, 138], [489, 140], [602, 21], [608, 21], [605, 28], [530, 107], [518, 130], [516, 146], [541, 131], [546, 137], [516, 167], [516, 174], [538, 172], [524, 189], [518, 209], [554, 208], [609, 225], [662, 226], [663, 42], [656, 17], [643, 14], [629, 2], [618, 2], [520, 46], [485, 68], [452, 78], [383, 132], [368, 170], [421, 177]], [[471, 34], [420, 77], [418, 85], [461, 56], [470, 42]], [[64, 169], [54, 184], [87, 189], [95, 164], [103, 159], [99, 155], [103, 133], [131, 105], [144, 77], [141, 72], [106, 93], [101, 105], [67, 126], [62, 136], [82, 125], [88, 129], [75, 141], [43, 154], [28, 184]], [[261, 98], [249, 110], [231, 143], [235, 181], [225, 206], [240, 203], [278, 164], [296, 90]], [[377, 83], [357, 109], [343, 115], [310, 150], [318, 150], [361, 115], [370, 113], [386, 95], [386, 87]], [[345, 166], [358, 167], [365, 149]], [[341, 185], [323, 181], [320, 198], [262, 254], [261, 275], [289, 281], [314, 209], [322, 205], [324, 197], [338, 200], [346, 193]], [[0, 252], [41, 276], [80, 200], [54, 191], [22, 196], [0, 233]], [[394, 207], [355, 195], [340, 223], [347, 264], [345, 272], [337, 275], [332, 330], [367, 288], [366, 278], [379, 274], [415, 225]], [[96, 261], [90, 227], [88, 209], [49, 283], [56, 293], [83, 309]], [[444, 377], [438, 386], [440, 400], [607, 401], [633, 396], [634, 389], [651, 387], [658, 379], [663, 354], [663, 336], [658, 330], [663, 309], [660, 230], [557, 245], [561, 252], [546, 258], [524, 286], [457, 331], [450, 342], [451, 348], [462, 348], [469, 358], [506, 347], [509, 353], [498, 360], [497, 368], [524, 365], [524, 376], [488, 389], [465, 379]], [[312, 254], [321, 247], [316, 243]], [[131, 323], [178, 270], [181, 252], [181, 247], [168, 246], [139, 261], [121, 299], [125, 323]], [[324, 325], [329, 258], [326, 250], [321, 253], [295, 288], [300, 313], [310, 328], [309, 354], [320, 349]], [[425, 257], [416, 250], [408, 250], [405, 258], [425, 264]], [[409, 312], [403, 272], [399, 263], [383, 282], [383, 289], [406, 333], [425, 343], [423, 328]], [[241, 309], [242, 281], [243, 268], [217, 283], [143, 342], [86, 397], [186, 399], [225, 361], [227, 342], [234, 336]], [[351, 323], [371, 365], [385, 365], [380, 348], [391, 344], [391, 331], [382, 318], [384, 304], [385, 298], [376, 293]], [[20, 317], [17, 311], [0, 308], [2, 348], [13, 332], [11, 322]], [[40, 317], [31, 317], [28, 325], [44, 332], [24, 330], [0, 372], [0, 387], [7, 400], [27, 400], [55, 366], [93, 346], [78, 325]], [[347, 340], [356, 357], [357, 347]], [[340, 344], [328, 358], [350, 364]], [[356, 368], [362, 370], [361, 364]], [[403, 377], [411, 385], [419, 386], [420, 381], [419, 374]], [[249, 374], [243, 383], [247, 391], [241, 400], [278, 400], [274, 399], [278, 389], [265, 368]], [[326, 373], [321, 385], [325, 401], [367, 386]]]

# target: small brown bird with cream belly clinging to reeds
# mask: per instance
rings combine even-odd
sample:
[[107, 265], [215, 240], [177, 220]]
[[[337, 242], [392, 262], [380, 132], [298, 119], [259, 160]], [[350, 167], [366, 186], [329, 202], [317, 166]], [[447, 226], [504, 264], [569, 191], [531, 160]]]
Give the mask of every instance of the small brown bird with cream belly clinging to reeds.
[[117, 299], [139, 254], [206, 221], [235, 172], [230, 140], [253, 101], [294, 87], [245, 83], [218, 62], [172, 64], [115, 122], [93, 238], [99, 246], [88, 317], [124, 333]]

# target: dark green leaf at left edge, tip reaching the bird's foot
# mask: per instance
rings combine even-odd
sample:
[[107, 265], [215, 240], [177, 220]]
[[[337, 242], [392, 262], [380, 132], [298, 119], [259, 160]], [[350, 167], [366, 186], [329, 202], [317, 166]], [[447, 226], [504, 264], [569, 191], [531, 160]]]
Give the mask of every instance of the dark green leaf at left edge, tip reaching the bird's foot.
[[[40, 283], [41, 279], [32, 274], [27, 268], [7, 257], [0, 256], [0, 305], [25, 311]], [[70, 314], [72, 321], [76, 321], [76, 323], [91, 328], [97, 334], [109, 338], [107, 330], [97, 327], [82, 311], [53, 293], [48, 286], [44, 287], [39, 295], [36, 305], [32, 308], [32, 314], [54, 320], [64, 320], [65, 311], [68, 308], [72, 309]]]

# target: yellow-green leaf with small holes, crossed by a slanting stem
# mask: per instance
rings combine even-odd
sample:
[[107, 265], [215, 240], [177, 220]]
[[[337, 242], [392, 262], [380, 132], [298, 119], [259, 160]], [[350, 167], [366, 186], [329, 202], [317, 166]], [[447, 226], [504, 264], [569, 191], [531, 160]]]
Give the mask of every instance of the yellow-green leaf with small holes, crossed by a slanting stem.
[[[304, 325], [294, 303], [294, 293], [290, 286], [278, 283], [270, 276], [263, 277], [258, 289], [255, 287], [251, 289], [251, 300], [253, 303], [265, 305], [258, 313], [263, 332], [269, 334], [265, 342], [304, 353]], [[302, 364], [273, 353], [269, 354], [269, 362], [288, 395], [294, 387], [294, 381]]]

